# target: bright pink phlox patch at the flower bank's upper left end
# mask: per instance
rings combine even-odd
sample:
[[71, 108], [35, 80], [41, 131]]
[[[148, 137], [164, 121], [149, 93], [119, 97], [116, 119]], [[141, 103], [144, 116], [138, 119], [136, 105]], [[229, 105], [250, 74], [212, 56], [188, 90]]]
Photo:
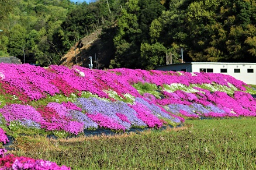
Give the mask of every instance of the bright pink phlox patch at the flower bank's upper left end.
[[1, 63], [0, 72], [4, 73], [4, 82], [18, 88], [31, 100], [39, 100], [46, 97], [45, 93], [51, 95], [58, 92], [58, 89], [49, 84], [50, 75], [44, 68], [29, 64], [14, 65]]

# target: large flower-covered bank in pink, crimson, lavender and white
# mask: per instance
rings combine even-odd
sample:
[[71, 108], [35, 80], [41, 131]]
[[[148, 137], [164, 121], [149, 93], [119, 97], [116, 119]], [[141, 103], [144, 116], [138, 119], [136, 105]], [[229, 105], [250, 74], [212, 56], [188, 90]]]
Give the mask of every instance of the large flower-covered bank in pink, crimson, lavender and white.
[[20, 128], [77, 135], [176, 126], [202, 116], [256, 116], [254, 94], [254, 87], [216, 73], [0, 63], [0, 137], [5, 143], [5, 132]]

